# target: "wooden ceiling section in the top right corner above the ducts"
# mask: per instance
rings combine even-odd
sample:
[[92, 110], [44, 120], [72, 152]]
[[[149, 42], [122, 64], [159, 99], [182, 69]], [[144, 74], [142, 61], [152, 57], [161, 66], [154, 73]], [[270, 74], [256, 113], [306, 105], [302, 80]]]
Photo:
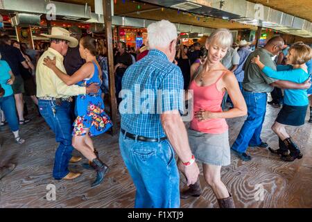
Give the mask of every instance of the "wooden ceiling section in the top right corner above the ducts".
[[312, 0], [248, 0], [312, 22]]

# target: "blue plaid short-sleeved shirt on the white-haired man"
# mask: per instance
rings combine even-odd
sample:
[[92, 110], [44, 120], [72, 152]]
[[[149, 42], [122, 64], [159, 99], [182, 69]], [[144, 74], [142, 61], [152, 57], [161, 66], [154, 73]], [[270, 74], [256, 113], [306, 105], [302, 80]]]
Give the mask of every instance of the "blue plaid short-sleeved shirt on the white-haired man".
[[[165, 137], [160, 114], [184, 108], [183, 76], [180, 67], [162, 51], [153, 49], [125, 71], [119, 105], [121, 128], [129, 133]], [[169, 93], [168, 93], [169, 92]], [[163, 96], [159, 96], [163, 94]]]

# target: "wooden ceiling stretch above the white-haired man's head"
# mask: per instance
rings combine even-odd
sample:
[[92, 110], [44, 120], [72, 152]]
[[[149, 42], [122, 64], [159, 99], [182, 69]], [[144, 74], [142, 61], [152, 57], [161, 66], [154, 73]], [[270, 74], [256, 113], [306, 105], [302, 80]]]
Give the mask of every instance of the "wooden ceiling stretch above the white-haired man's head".
[[[60, 1], [60, 0], [56, 0]], [[91, 6], [92, 11], [94, 12], [94, 0], [65, 0], [62, 2], [67, 3], [78, 3], [85, 4], [88, 3]], [[140, 9], [138, 9], [138, 6]], [[148, 11], [150, 10], [150, 11]], [[206, 28], [228, 28], [228, 29], [257, 29], [255, 26], [248, 26], [244, 24], [239, 24], [238, 22], [229, 22], [223, 19], [213, 19], [189, 15], [189, 13], [177, 13], [177, 10], [164, 8], [162, 10], [159, 6], [154, 6], [148, 3], [142, 3], [139, 1], [130, 1], [125, 0], [125, 3], [121, 0], [117, 0], [114, 4], [114, 15], [126, 16], [126, 17], [135, 17], [140, 19], [152, 19], [152, 20], [161, 20], [167, 19], [170, 22], [180, 23], [180, 24], [191, 24], [194, 26], [201, 26]]]

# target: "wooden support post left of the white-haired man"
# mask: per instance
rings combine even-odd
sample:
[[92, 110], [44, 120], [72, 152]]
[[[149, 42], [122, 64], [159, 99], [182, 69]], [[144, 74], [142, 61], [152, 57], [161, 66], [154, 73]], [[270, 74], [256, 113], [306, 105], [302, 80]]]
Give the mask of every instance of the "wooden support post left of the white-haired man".
[[111, 0], [103, 0], [103, 14], [105, 25], [105, 38], [107, 44], [107, 62], [109, 71], [110, 87], [110, 117], [112, 119], [112, 135], [117, 133], [117, 103], [115, 91], [115, 74], [114, 74], [114, 55], [113, 55], [113, 38], [112, 38], [112, 6]]

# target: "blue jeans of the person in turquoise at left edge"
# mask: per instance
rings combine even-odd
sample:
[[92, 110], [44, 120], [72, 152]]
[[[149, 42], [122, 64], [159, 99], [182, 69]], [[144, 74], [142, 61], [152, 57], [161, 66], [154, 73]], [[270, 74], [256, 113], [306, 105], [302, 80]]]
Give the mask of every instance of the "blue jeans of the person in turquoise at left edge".
[[17, 119], [14, 96], [0, 97], [0, 108], [8, 121], [12, 132], [19, 130], [19, 121]]

